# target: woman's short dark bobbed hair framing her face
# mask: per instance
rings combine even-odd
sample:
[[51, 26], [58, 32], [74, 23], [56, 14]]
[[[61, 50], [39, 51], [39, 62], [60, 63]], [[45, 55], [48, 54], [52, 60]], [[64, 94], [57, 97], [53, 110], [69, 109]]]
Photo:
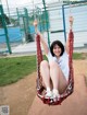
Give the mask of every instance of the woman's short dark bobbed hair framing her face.
[[50, 46], [51, 55], [54, 56], [53, 47], [54, 47], [55, 45], [58, 45], [58, 46], [61, 48], [61, 54], [60, 54], [60, 56], [62, 56], [63, 53], [64, 53], [64, 45], [63, 45], [60, 41], [54, 41], [54, 42], [51, 44], [51, 46]]

